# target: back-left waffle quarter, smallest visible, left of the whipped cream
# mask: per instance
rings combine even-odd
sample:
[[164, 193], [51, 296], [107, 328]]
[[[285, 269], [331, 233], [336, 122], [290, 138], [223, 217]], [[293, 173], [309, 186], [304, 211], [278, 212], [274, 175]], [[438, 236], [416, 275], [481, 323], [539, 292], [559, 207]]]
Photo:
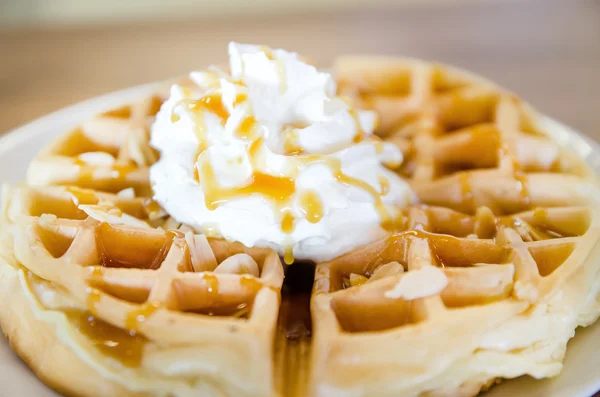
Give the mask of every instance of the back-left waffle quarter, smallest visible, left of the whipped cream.
[[150, 196], [148, 167], [158, 156], [149, 145], [149, 128], [164, 99], [152, 95], [86, 121], [34, 159], [27, 182], [115, 193], [131, 187]]

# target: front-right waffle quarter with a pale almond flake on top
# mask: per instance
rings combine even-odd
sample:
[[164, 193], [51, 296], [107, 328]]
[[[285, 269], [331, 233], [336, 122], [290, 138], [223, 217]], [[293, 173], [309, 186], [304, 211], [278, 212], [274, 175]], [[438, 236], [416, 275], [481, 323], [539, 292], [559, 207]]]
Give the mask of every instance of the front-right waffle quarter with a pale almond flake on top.
[[[495, 378], [555, 372], [572, 335], [544, 340], [542, 333], [532, 343], [527, 330], [540, 322], [568, 321], [571, 331], [587, 324], [578, 315], [588, 298], [582, 291], [600, 269], [588, 260], [598, 254], [599, 215], [582, 207], [507, 217], [485, 207], [476, 216], [408, 209], [408, 231], [317, 265], [313, 391], [473, 396]], [[426, 267], [440, 269], [447, 285], [427, 292], [434, 280], [411, 278]], [[425, 296], [386, 296], [403, 278]], [[551, 306], [572, 318], [554, 319]], [[523, 345], [490, 348], [498, 335]], [[520, 367], [507, 368], [510, 362]]]

